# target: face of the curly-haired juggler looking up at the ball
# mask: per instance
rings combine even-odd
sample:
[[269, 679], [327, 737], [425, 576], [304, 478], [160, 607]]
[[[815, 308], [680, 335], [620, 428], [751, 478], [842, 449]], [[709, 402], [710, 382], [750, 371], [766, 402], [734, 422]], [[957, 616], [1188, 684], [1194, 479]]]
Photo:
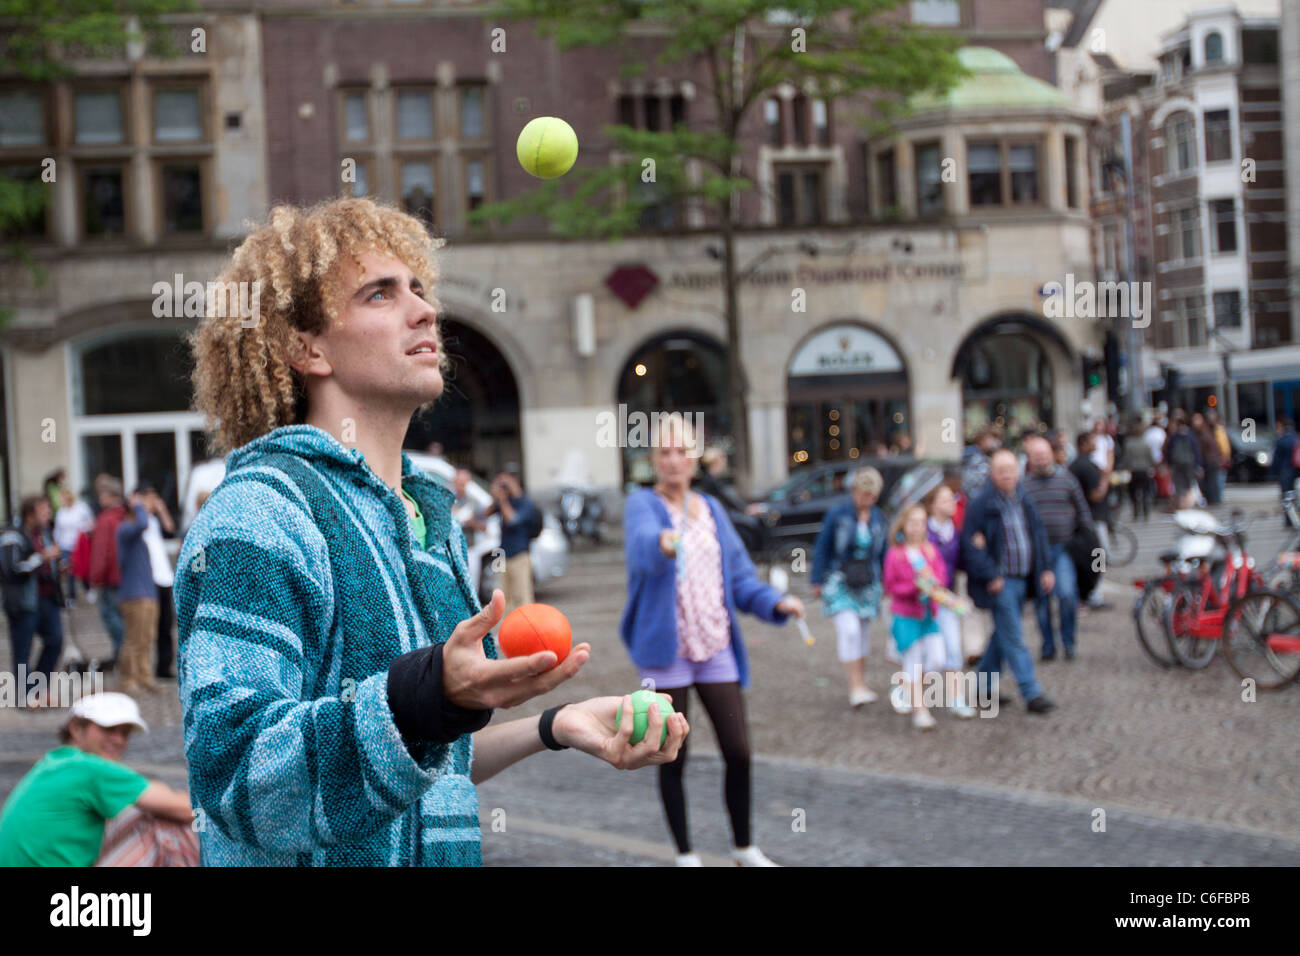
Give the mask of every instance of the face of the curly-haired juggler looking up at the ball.
[[415, 411], [442, 394], [437, 312], [406, 263], [378, 252], [358, 260], [342, 258], [338, 320], [317, 334], [298, 333], [315, 354], [295, 365], [330, 377], [359, 405]]

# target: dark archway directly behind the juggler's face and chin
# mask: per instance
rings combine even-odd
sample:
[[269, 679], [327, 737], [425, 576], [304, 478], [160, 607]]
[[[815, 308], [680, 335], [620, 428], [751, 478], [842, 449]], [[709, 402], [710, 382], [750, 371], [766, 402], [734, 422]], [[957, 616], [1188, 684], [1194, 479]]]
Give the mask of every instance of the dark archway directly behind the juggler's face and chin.
[[451, 368], [442, 397], [411, 418], [403, 447], [428, 451], [433, 442], [452, 464], [493, 475], [523, 466], [519, 386], [506, 356], [491, 339], [455, 319], [439, 320]]

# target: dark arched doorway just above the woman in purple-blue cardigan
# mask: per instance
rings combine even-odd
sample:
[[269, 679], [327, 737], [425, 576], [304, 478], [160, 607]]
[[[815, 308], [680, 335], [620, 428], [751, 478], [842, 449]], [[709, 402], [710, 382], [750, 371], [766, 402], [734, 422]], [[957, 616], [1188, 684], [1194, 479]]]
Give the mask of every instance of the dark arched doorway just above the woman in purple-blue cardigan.
[[[727, 410], [727, 352], [696, 332], [668, 332], [637, 349], [619, 375], [620, 420], [634, 412], [702, 415], [703, 440], [725, 444], [732, 423]], [[699, 420], [699, 419], [696, 419]], [[650, 484], [649, 447], [624, 447], [624, 484]]]

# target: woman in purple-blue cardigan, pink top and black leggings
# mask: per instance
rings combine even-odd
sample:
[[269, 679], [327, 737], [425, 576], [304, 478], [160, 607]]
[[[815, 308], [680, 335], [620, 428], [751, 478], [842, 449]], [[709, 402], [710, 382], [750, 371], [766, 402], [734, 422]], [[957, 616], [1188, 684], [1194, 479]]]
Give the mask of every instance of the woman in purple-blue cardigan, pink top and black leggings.
[[[750, 840], [750, 747], [741, 687], [749, 656], [736, 623], [748, 611], [772, 623], [802, 617], [803, 604], [763, 584], [716, 498], [690, 490], [698, 457], [689, 453], [689, 423], [670, 419], [651, 442], [653, 489], [628, 496], [623, 514], [628, 605], [619, 632], [642, 687], [672, 698], [689, 719], [690, 688], [699, 695], [718, 735], [725, 770], [738, 866], [776, 866]], [[659, 766], [659, 796], [677, 844], [679, 866], [699, 866], [690, 852], [682, 773], [686, 747]]]

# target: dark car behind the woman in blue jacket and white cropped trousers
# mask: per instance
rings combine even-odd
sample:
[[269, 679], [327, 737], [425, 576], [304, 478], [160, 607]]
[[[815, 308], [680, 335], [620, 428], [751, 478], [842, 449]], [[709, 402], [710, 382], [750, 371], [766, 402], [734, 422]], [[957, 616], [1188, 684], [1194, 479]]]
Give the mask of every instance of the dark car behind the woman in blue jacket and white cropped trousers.
[[880, 502], [884, 505], [898, 480], [918, 464], [922, 462], [911, 455], [897, 455], [826, 462], [800, 468], [757, 502], [757, 512], [767, 525], [775, 557], [784, 559], [793, 548], [811, 549], [822, 531], [826, 512], [850, 499], [849, 481], [858, 468], [871, 467], [880, 472], [884, 479]]

